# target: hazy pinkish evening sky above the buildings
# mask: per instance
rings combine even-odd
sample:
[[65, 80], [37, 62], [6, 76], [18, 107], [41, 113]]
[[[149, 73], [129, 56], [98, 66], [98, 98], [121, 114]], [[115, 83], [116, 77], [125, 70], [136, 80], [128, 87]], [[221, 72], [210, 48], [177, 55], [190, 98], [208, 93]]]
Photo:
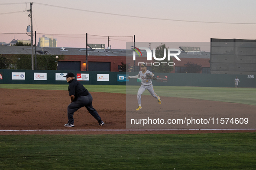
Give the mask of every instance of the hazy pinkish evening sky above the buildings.
[[[33, 31], [37, 32], [36, 41], [42, 35], [51, 34], [57, 38], [58, 47], [85, 47], [86, 39], [82, 35], [86, 33], [89, 35], [88, 43], [106, 44], [106, 47], [107, 37], [91, 35], [130, 36], [110, 37], [112, 48], [122, 49], [126, 48], [126, 41], [133, 41], [133, 35], [136, 35], [137, 42], [209, 42], [211, 38], [256, 39], [256, 0], [34, 0], [33, 2]], [[3, 5], [4, 3], [20, 4]], [[0, 0], [0, 41], [9, 43], [13, 36], [15, 39], [30, 39], [25, 34], [27, 26], [30, 25], [29, 12], [11, 13], [25, 9], [30, 9], [30, 2], [26, 0]], [[154, 43], [151, 47], [153, 45]], [[204, 47], [201, 49], [204, 50]]]

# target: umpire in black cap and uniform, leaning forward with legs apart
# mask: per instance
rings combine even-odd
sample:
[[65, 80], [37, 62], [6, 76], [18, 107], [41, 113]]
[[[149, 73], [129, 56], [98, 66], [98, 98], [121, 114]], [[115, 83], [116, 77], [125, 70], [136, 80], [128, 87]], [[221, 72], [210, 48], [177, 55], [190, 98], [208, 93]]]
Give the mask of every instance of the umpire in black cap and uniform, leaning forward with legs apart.
[[75, 79], [75, 74], [73, 72], [68, 72], [66, 76], [68, 86], [68, 93], [71, 98], [68, 105], [68, 123], [64, 126], [73, 127], [74, 118], [73, 115], [75, 111], [81, 107], [86, 107], [89, 113], [99, 122], [100, 126], [103, 126], [105, 123], [100, 119], [97, 111], [92, 107], [92, 96], [84, 86]]

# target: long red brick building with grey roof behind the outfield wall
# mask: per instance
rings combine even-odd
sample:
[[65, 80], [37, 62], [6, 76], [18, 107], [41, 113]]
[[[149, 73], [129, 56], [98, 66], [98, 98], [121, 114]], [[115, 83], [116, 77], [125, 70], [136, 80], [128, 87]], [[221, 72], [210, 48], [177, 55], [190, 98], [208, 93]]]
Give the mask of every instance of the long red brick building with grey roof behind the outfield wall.
[[[126, 54], [127, 53], [127, 54]], [[0, 54], [30, 54], [31, 47], [24, 48], [22, 46], [0, 46]], [[134, 66], [133, 56], [126, 50], [119, 49], [88, 49], [86, 60], [86, 49], [81, 48], [60, 48], [60, 47], [44, 47], [36, 50], [37, 55], [50, 54], [50, 55], [64, 55], [64, 60], [58, 61], [58, 70], [80, 70], [86, 71], [111, 71], [119, 72], [121, 62], [127, 66]], [[127, 56], [127, 57], [126, 57]], [[174, 70], [172, 73], [185, 72], [185, 64], [187, 62], [201, 64], [203, 70], [201, 73], [210, 73], [210, 52], [185, 52], [181, 51], [178, 55], [181, 61], [178, 61], [175, 57], [172, 58]], [[146, 63], [146, 57], [136, 57], [135, 72], [139, 71], [138, 62]], [[150, 70], [150, 65], [147, 64]]]

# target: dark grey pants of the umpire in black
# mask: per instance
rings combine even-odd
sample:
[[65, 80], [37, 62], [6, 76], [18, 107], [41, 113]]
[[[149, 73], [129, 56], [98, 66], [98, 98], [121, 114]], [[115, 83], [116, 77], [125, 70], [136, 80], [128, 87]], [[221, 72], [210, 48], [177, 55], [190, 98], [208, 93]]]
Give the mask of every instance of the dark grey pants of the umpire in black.
[[96, 120], [101, 120], [97, 111], [92, 107], [92, 96], [91, 94], [88, 94], [87, 96], [81, 96], [77, 98], [76, 101], [73, 101], [68, 105], [68, 123], [74, 123], [73, 115], [75, 111], [81, 107], [86, 107], [89, 113], [91, 113], [91, 115], [94, 116]]

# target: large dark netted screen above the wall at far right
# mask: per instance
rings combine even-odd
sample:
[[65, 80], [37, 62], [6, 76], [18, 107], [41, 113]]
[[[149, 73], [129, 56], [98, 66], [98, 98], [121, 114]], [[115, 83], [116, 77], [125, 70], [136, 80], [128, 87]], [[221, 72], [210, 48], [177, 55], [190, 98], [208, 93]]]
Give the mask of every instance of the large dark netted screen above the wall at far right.
[[256, 40], [211, 38], [211, 74], [256, 74]]

